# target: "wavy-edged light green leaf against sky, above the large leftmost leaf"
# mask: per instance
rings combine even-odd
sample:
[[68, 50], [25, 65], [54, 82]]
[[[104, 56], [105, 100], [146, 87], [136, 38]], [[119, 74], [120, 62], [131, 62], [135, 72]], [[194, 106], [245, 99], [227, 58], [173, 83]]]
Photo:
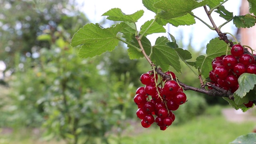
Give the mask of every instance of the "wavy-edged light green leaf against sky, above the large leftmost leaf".
[[102, 16], [108, 16], [108, 20], [124, 21], [124, 22], [137, 22], [144, 14], [144, 10], [139, 10], [133, 14], [124, 14], [120, 8], [112, 8], [108, 10]]

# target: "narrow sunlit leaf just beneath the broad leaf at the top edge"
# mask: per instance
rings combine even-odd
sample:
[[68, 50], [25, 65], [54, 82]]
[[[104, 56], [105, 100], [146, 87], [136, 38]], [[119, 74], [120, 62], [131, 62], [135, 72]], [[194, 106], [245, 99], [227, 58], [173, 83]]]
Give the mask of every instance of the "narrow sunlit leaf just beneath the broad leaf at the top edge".
[[180, 16], [178, 18], [171, 18], [169, 20], [158, 18], [156, 20], [158, 24], [165, 26], [167, 23], [172, 24], [173, 26], [189, 26], [196, 23], [194, 16], [190, 14], [185, 14], [184, 16]]

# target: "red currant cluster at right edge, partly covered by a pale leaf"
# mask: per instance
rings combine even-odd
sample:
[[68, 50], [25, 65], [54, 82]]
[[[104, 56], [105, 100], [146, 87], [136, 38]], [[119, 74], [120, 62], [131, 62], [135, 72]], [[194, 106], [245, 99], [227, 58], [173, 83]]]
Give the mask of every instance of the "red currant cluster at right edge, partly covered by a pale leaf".
[[[209, 77], [215, 86], [234, 93], [239, 87], [239, 76], [245, 72], [256, 74], [254, 56], [244, 54], [243, 46], [234, 44], [230, 55], [218, 56], [212, 60], [212, 70]], [[212, 89], [211, 87], [208, 88]]]

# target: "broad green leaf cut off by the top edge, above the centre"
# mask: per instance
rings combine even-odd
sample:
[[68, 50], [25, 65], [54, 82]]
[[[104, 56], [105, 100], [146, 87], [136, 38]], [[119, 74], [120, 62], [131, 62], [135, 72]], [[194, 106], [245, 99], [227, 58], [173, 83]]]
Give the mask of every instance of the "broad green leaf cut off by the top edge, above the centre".
[[161, 11], [157, 16], [163, 19], [177, 18], [190, 13], [195, 8], [205, 6], [208, 1], [196, 0], [160, 0], [153, 4], [155, 8], [160, 8]]

